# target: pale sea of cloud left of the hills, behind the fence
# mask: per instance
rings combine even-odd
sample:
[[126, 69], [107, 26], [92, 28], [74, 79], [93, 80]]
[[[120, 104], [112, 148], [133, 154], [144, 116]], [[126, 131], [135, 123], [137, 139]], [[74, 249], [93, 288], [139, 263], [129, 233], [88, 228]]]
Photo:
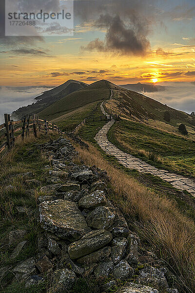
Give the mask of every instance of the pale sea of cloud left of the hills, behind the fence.
[[14, 110], [36, 103], [35, 97], [49, 90], [45, 86], [0, 86], [0, 124], [4, 122], [4, 113], [11, 114]]

